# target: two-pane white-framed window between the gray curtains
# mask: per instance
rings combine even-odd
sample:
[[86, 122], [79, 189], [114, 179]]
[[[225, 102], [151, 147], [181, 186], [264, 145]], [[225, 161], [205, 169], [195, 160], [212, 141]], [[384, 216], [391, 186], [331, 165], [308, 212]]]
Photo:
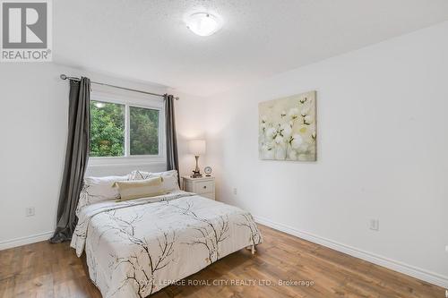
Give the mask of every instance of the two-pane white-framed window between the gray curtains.
[[90, 158], [161, 158], [162, 103], [157, 100], [90, 99]]

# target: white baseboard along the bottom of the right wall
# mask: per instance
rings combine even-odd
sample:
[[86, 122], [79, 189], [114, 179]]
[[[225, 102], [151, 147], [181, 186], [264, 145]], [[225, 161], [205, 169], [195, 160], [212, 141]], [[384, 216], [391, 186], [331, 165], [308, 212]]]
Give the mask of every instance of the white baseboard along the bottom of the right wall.
[[420, 280], [426, 281], [427, 283], [439, 285], [439, 286], [442, 286], [442, 287], [448, 289], [448, 277], [444, 277], [440, 274], [430, 272], [430, 271], [427, 271], [422, 268], [417, 268], [417, 267], [402, 263], [397, 260], [391, 260], [391, 259], [385, 258], [383, 256], [379, 256], [379, 255], [369, 252], [369, 251], [362, 251], [355, 247], [352, 247], [352, 246], [349, 246], [346, 244], [342, 244], [342, 243], [337, 243], [335, 241], [323, 238], [318, 235], [306, 233], [303, 231], [298, 231], [297, 229], [295, 229], [293, 227], [275, 223], [275, 222], [271, 221], [270, 219], [267, 219], [264, 217], [254, 217], [254, 218], [255, 218], [255, 221], [261, 225], [269, 226], [275, 230], [279, 230], [286, 234], [292, 234], [294, 236], [303, 238], [312, 243], [321, 244], [321, 245], [329, 247], [335, 251], [340, 251], [340, 252], [346, 253], [346, 254], [356, 257], [358, 259], [366, 260], [366, 261], [369, 261], [376, 265], [383, 266], [385, 268], [390, 268], [394, 271], [401, 272], [410, 277], [416, 277]]

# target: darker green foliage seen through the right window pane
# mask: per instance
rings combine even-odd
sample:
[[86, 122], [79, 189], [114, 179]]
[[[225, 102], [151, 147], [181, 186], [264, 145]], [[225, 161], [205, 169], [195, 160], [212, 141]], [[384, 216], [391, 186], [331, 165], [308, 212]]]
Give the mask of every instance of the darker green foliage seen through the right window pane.
[[159, 111], [129, 107], [131, 155], [159, 154]]

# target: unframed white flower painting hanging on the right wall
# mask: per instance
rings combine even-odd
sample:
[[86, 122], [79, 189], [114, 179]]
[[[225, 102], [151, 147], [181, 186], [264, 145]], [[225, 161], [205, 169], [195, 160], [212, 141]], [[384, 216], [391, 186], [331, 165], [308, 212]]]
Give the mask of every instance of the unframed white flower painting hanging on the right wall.
[[316, 160], [316, 92], [259, 104], [260, 159]]

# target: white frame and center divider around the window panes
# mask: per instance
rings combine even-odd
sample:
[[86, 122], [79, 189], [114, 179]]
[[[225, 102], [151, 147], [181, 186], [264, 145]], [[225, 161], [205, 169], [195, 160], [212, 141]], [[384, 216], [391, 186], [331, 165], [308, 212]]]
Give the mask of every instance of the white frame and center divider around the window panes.
[[[90, 101], [125, 106], [125, 156], [122, 157], [89, 157], [90, 166], [99, 165], [134, 165], [141, 163], [160, 163], [166, 161], [166, 137], [165, 137], [165, 105], [163, 99], [153, 96], [136, 97], [133, 95], [113, 94], [100, 91], [92, 91]], [[130, 136], [130, 106], [141, 107], [159, 111], [159, 154], [158, 155], [131, 155]]]

